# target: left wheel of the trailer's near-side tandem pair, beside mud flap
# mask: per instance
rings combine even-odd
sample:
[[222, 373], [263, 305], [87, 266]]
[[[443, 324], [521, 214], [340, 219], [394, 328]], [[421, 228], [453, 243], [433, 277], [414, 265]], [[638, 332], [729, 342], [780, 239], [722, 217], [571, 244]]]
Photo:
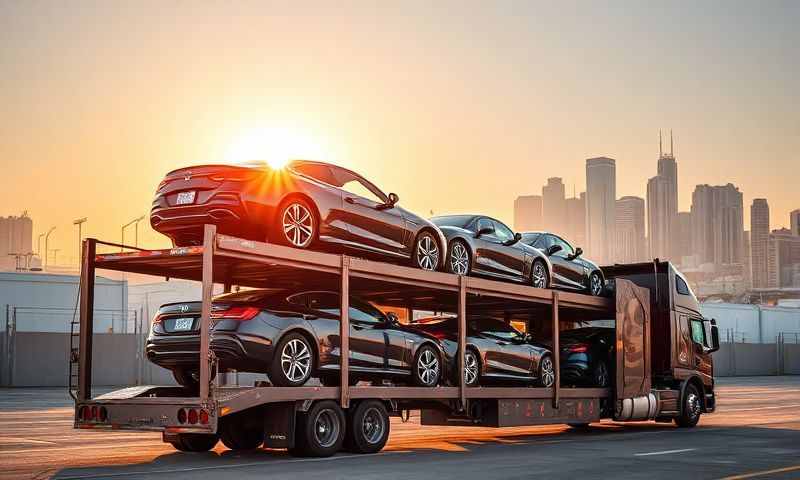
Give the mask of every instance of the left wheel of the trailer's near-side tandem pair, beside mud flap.
[[345, 418], [339, 405], [332, 400], [314, 404], [305, 414], [298, 415], [295, 426], [295, 446], [292, 455], [330, 457], [342, 448]]

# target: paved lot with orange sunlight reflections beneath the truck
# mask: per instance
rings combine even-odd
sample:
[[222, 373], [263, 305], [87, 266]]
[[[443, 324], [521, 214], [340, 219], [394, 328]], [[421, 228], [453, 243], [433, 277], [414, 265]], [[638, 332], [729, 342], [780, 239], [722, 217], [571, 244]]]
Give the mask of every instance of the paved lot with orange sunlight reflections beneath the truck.
[[[184, 454], [159, 434], [72, 429], [63, 390], [0, 390], [0, 478], [800, 478], [800, 377], [721, 379], [693, 430], [604, 422], [487, 429], [392, 424], [378, 455]], [[396, 419], [393, 419], [396, 420]], [[752, 474], [754, 476], [747, 476]], [[742, 476], [744, 475], [744, 476]]]

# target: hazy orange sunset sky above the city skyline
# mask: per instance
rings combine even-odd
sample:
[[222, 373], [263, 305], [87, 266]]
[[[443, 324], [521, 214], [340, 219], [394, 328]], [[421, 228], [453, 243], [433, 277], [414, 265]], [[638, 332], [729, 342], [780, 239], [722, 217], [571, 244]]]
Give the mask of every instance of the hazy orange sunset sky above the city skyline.
[[756, 197], [788, 224], [800, 2], [554, 3], [0, 2], [0, 215], [28, 210], [34, 248], [56, 225], [74, 261], [73, 219], [119, 241], [167, 171], [255, 153], [511, 222], [548, 177], [580, 192], [594, 156], [644, 196], [672, 128], [681, 210], [732, 182], [746, 229]]

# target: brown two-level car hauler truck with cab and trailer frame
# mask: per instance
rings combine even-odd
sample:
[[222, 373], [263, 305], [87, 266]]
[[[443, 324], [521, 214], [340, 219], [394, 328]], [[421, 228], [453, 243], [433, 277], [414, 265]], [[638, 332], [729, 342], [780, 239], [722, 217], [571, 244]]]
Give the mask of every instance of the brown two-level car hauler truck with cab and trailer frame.
[[[99, 254], [98, 246], [121, 251]], [[124, 248], [132, 251], [124, 252]], [[714, 408], [710, 353], [718, 347], [716, 327], [702, 319], [696, 308], [690, 308], [687, 299], [675, 300], [676, 283], [683, 280], [663, 262], [609, 268], [606, 274], [615, 285], [613, 298], [254, 242], [218, 235], [213, 226], [205, 227], [202, 246], [169, 250], [132, 249], [87, 239], [82, 262], [80, 317], [75, 325], [78, 331], [73, 331], [77, 342], [70, 356], [76, 428], [160, 431], [164, 441], [185, 451], [208, 450], [222, 438], [234, 449], [263, 444], [300, 455], [324, 456], [343, 444], [354, 452], [380, 450], [388, 438], [388, 415], [411, 409], [421, 410], [423, 424], [502, 427], [585, 425], [602, 418], [675, 419], [679, 425], [693, 426], [701, 413]], [[97, 269], [202, 282], [199, 392], [135, 386], [92, 396]], [[212, 382], [217, 368], [209, 348], [214, 284], [224, 285], [225, 291], [233, 285], [340, 291], [341, 386], [222, 386]], [[433, 388], [351, 386], [350, 295], [409, 311], [456, 312], [458, 372], [463, 371], [468, 312], [523, 321], [529, 331], [551, 339], [554, 386], [468, 388], [463, 375], [455, 376], [458, 385]], [[590, 320], [614, 321], [613, 387], [563, 387], [558, 355], [561, 325]], [[691, 323], [698, 321], [699, 329]]]

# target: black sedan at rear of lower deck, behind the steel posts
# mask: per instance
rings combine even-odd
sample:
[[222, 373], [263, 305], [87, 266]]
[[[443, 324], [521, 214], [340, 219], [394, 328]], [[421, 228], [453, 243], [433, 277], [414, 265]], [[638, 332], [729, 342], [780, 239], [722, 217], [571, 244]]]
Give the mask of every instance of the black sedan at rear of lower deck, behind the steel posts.
[[[266, 373], [274, 385], [300, 386], [312, 376], [339, 384], [340, 299], [336, 292], [247, 290], [214, 298], [211, 350], [220, 370]], [[200, 303], [165, 305], [147, 339], [147, 358], [182, 385], [197, 384]], [[351, 382], [399, 381], [434, 387], [444, 352], [432, 335], [350, 298]]]

